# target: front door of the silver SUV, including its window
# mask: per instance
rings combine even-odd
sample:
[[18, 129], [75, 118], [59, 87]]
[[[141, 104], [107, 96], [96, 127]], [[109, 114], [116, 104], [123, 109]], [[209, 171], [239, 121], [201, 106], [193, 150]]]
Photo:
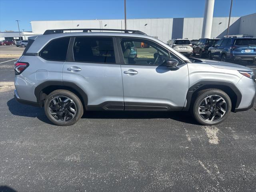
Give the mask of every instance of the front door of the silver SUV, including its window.
[[[124, 59], [121, 70], [125, 110], [182, 109], [189, 86], [187, 64], [148, 40], [120, 38], [118, 42]], [[135, 57], [130, 54], [130, 44], [135, 46]], [[168, 58], [179, 61], [176, 69], [162, 65]]]

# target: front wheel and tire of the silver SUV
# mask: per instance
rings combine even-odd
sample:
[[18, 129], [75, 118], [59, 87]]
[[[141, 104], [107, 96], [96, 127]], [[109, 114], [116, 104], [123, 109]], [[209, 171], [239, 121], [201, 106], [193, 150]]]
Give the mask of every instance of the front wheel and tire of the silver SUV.
[[216, 125], [228, 117], [231, 108], [232, 103], [226, 92], [219, 89], [206, 89], [198, 92], [192, 114], [202, 125]]

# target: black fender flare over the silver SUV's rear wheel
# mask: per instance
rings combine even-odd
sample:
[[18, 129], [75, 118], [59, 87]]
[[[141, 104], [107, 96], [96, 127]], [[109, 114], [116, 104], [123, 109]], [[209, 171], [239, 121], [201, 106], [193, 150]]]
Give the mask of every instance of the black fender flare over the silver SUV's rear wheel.
[[40, 104], [40, 106], [43, 106], [43, 100], [42, 100], [42, 90], [48, 86], [63, 86], [66, 88], [70, 88], [70, 90], [76, 91], [80, 95], [80, 99], [82, 99], [83, 104], [86, 106], [88, 104], [88, 96], [86, 92], [78, 86], [74, 82], [66, 82], [66, 81], [45, 81], [38, 86], [36, 86], [34, 90], [34, 94], [36, 96], [37, 102]]

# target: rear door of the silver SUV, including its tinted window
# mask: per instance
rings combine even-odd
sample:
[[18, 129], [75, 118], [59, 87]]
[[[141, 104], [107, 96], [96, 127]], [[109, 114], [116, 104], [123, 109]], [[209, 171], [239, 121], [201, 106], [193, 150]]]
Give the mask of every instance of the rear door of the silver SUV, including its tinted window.
[[124, 110], [121, 67], [115, 38], [78, 36], [71, 38], [63, 83], [74, 82], [87, 93], [91, 110]]

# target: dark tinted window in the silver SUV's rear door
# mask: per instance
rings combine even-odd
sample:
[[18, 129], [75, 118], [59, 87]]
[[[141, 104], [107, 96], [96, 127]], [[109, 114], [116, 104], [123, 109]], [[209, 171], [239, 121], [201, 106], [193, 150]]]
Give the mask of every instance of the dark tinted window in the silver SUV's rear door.
[[73, 51], [75, 61], [116, 63], [111, 37], [76, 37]]

